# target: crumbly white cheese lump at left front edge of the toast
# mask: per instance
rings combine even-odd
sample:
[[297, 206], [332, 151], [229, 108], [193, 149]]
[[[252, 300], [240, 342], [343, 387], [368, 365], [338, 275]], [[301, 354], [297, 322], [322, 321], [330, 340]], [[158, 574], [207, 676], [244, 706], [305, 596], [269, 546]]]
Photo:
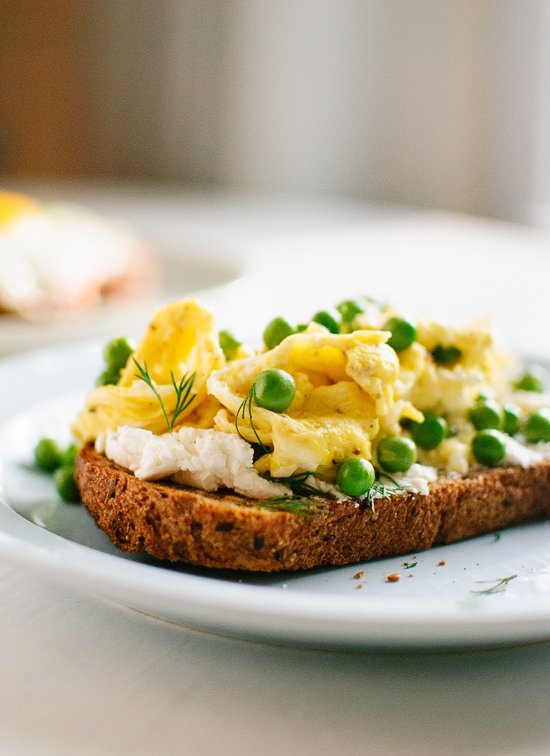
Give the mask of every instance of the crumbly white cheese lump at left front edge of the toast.
[[231, 488], [252, 499], [291, 493], [258, 475], [252, 447], [232, 433], [184, 427], [155, 436], [123, 425], [98, 437], [96, 449], [140, 480], [171, 477], [204, 491]]

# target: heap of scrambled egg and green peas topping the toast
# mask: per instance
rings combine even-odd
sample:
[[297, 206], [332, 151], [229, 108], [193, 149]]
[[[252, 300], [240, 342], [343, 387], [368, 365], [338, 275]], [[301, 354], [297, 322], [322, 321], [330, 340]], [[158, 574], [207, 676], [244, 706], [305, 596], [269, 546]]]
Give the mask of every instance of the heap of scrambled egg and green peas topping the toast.
[[[248, 467], [268, 480], [309, 475], [319, 490], [329, 485], [353, 497], [379, 475], [395, 483], [391, 476], [428, 480], [436, 471], [514, 463], [514, 436], [550, 441], [550, 414], [546, 430], [540, 418], [532, 423], [538, 431], [527, 430], [548, 397], [533, 409], [530, 392], [543, 390], [531, 387], [535, 378], [512, 383], [517, 369], [495, 348], [489, 322], [412, 323], [370, 300], [338, 310], [296, 327], [276, 318], [264, 346], [248, 350], [219, 334], [195, 300], [163, 307], [135, 350], [106, 352], [107, 385], [88, 394], [72, 431], [98, 448], [124, 427], [229, 434], [249, 449]], [[287, 394], [282, 403], [278, 390]], [[154, 464], [164, 469], [160, 457]]]

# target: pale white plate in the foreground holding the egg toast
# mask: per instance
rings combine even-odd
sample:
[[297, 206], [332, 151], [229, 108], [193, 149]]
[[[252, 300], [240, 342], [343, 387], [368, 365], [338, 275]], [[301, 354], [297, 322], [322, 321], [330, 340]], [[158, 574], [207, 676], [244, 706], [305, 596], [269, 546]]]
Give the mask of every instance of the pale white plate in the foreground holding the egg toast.
[[[175, 568], [116, 551], [82, 507], [58, 501], [48, 477], [30, 466], [40, 436], [66, 440], [99, 370], [98, 345], [0, 363], [5, 558], [164, 619], [256, 640], [428, 648], [550, 638], [550, 523], [406, 557], [272, 576]], [[407, 569], [404, 562], [416, 564]], [[393, 572], [401, 580], [386, 582]], [[476, 593], [511, 575], [517, 577], [505, 591]]]

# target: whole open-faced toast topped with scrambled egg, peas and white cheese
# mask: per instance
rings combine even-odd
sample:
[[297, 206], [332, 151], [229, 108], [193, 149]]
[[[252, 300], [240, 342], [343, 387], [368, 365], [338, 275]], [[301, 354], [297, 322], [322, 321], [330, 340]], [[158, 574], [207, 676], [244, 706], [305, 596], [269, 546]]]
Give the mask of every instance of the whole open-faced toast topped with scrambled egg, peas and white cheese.
[[487, 322], [368, 299], [249, 349], [194, 300], [118, 339], [72, 431], [125, 551], [245, 570], [413, 553], [550, 515], [550, 396]]

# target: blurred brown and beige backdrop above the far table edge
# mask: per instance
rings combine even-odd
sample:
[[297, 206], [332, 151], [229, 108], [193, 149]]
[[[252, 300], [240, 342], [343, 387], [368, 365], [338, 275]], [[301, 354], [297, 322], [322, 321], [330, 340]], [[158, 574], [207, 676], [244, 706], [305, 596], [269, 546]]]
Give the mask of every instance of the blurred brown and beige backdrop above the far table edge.
[[547, 0], [1, 0], [0, 175], [550, 222]]

